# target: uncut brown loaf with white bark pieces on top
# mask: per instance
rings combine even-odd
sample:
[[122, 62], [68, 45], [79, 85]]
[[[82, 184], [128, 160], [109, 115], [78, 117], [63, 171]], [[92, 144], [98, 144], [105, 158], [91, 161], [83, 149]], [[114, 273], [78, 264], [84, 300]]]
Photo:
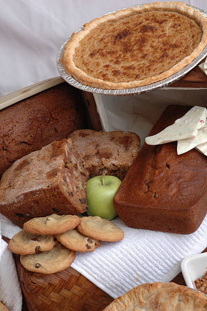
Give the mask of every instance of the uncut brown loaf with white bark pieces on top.
[[[190, 108], [168, 106], [149, 136]], [[176, 145], [143, 145], [114, 198], [128, 226], [181, 234], [200, 226], [207, 212], [207, 158], [195, 149], [178, 155]]]

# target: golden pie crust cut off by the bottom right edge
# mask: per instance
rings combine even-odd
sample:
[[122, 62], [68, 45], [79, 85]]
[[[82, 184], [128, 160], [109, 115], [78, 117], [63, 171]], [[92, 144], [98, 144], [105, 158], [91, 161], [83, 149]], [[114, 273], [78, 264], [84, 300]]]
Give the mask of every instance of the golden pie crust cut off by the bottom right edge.
[[113, 300], [104, 311], [204, 311], [204, 294], [175, 283], [146, 283]]

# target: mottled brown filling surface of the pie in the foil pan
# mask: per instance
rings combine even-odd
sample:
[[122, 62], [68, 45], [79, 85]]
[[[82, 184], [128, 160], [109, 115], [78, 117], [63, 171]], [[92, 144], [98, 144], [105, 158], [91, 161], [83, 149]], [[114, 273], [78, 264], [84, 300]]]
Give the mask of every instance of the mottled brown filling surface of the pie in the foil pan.
[[201, 41], [200, 25], [180, 12], [151, 9], [101, 23], [75, 50], [87, 75], [109, 82], [161, 74], [190, 55]]

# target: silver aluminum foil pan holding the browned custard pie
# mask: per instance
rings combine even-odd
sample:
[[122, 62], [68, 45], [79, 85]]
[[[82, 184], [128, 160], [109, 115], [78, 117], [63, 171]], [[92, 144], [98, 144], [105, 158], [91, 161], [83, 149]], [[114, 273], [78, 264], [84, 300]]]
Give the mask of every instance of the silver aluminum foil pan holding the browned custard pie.
[[[129, 7], [125, 7], [119, 10], [115, 10], [109, 13], [106, 13], [104, 15], [107, 14], [112, 14], [114, 12], [126, 9], [126, 8], [132, 8], [132, 7], [140, 7], [143, 4], [140, 5], [134, 5], [134, 6], [129, 6]], [[192, 7], [195, 11], [200, 12], [204, 17], [207, 18], [207, 12], [199, 9], [197, 7], [194, 6], [190, 6], [187, 5], [188, 7]], [[101, 15], [101, 16], [104, 16]], [[99, 17], [101, 17], [99, 16]], [[80, 30], [83, 29], [83, 26], [80, 27], [79, 29], [75, 30], [75, 33], [79, 32]], [[182, 70], [180, 70], [179, 72], [176, 72], [175, 74], [173, 74], [172, 76], [160, 80], [156, 83], [152, 83], [152, 84], [148, 84], [148, 85], [143, 85], [140, 87], [134, 87], [134, 88], [125, 88], [125, 89], [104, 89], [104, 88], [98, 88], [98, 87], [92, 87], [92, 86], [88, 86], [88, 85], [84, 85], [80, 82], [78, 82], [76, 79], [74, 79], [72, 76], [70, 76], [66, 71], [65, 68], [63, 67], [63, 65], [61, 64], [60, 59], [63, 56], [63, 51], [65, 48], [66, 43], [70, 40], [71, 36], [64, 42], [64, 44], [61, 46], [58, 54], [57, 54], [57, 70], [60, 73], [60, 75], [62, 76], [62, 78], [68, 82], [69, 84], [87, 91], [87, 92], [93, 92], [93, 93], [98, 93], [98, 94], [103, 94], [103, 95], [116, 95], [116, 96], [125, 96], [125, 95], [139, 95], [145, 92], [149, 92], [149, 91], [153, 91], [157, 88], [161, 88], [161, 87], [165, 87], [167, 85], [169, 85], [172, 82], [175, 82], [176, 80], [179, 80], [180, 78], [182, 78], [183, 76], [185, 76], [190, 70], [192, 70], [196, 65], [198, 65], [198, 63], [200, 63], [200, 61], [207, 55], [207, 45], [205, 46], [205, 48], [201, 51], [201, 53], [192, 61], [191, 64], [189, 64], [188, 66], [186, 66], [185, 68], [183, 68]]]

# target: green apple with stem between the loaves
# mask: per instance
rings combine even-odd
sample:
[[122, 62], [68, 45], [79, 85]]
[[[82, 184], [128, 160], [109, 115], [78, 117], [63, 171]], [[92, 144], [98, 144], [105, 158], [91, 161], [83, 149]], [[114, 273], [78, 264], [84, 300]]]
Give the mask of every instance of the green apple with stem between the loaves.
[[111, 220], [117, 214], [113, 207], [113, 197], [119, 189], [121, 180], [115, 176], [106, 175], [90, 178], [86, 183], [87, 214], [100, 216]]

